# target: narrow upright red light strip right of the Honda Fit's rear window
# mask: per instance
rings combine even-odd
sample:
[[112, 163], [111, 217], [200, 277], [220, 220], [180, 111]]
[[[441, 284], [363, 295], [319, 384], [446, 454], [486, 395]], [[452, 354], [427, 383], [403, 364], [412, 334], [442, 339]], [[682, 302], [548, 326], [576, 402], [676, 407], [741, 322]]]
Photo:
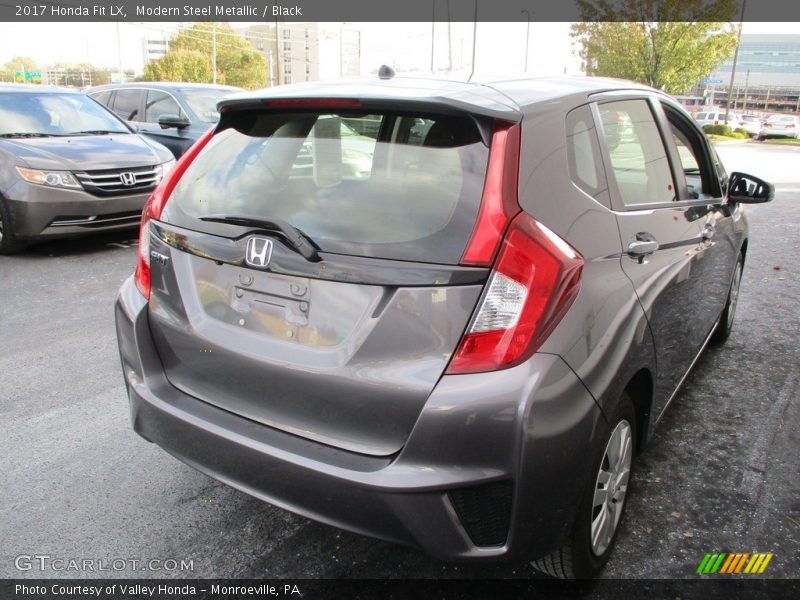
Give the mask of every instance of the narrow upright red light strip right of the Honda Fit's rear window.
[[490, 266], [509, 221], [520, 211], [517, 202], [519, 142], [518, 124], [501, 123], [492, 134], [481, 208], [461, 257], [462, 265]]

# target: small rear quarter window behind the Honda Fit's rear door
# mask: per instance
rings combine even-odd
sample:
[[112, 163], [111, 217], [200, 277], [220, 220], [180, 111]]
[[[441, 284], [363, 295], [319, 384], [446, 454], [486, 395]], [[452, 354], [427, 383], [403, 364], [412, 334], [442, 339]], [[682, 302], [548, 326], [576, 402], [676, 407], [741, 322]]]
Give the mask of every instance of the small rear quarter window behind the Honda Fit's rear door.
[[600, 144], [589, 106], [567, 115], [567, 162], [572, 182], [598, 202], [610, 206]]

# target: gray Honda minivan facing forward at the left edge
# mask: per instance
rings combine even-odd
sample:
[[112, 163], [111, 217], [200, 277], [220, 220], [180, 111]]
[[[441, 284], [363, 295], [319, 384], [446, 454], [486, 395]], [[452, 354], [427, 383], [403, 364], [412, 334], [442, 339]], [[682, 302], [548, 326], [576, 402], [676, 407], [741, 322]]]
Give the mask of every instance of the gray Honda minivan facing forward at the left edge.
[[83, 94], [0, 84], [0, 254], [136, 227], [173, 164], [166, 148]]

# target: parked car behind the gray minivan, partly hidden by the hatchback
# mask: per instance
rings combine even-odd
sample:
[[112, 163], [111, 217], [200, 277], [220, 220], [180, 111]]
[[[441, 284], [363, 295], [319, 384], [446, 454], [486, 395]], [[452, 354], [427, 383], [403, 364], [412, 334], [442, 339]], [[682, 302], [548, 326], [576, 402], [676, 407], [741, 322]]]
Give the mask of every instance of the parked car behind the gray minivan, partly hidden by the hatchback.
[[98, 85], [85, 93], [178, 158], [219, 121], [217, 102], [241, 91], [230, 85], [144, 82]]

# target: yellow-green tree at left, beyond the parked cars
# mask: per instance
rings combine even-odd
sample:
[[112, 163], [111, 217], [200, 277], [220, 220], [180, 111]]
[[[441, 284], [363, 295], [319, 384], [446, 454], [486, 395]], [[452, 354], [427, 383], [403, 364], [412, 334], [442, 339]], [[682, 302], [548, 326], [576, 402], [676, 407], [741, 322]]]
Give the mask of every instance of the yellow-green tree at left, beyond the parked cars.
[[145, 67], [142, 79], [210, 83], [213, 37], [217, 48], [217, 83], [248, 89], [266, 85], [264, 57], [227, 23], [196, 23], [179, 31], [170, 40], [169, 51]]

